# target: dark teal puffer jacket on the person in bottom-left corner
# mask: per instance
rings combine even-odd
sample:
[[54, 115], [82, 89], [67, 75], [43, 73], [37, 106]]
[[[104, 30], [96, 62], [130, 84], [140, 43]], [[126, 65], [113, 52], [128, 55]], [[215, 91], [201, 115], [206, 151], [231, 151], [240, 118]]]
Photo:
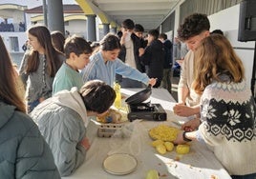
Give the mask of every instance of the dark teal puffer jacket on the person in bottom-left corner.
[[0, 102], [0, 178], [60, 178], [53, 154], [25, 113]]

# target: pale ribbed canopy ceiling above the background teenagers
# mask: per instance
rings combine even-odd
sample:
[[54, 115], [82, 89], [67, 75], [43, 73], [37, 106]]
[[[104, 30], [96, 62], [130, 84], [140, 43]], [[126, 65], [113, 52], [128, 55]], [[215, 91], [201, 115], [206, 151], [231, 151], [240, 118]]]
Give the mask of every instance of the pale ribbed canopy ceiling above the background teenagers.
[[144, 29], [157, 29], [163, 20], [183, 0], [91, 0], [117, 25], [130, 18]]

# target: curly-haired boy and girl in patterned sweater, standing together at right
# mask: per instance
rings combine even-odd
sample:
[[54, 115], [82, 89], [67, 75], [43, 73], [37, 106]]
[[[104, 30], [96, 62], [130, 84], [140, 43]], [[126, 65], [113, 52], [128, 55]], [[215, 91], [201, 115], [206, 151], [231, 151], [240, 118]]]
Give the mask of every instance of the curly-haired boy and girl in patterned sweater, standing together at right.
[[232, 179], [255, 179], [256, 107], [245, 84], [245, 68], [224, 35], [209, 29], [207, 16], [194, 13], [178, 30], [189, 51], [174, 113], [195, 118], [182, 125], [174, 143], [203, 142]]

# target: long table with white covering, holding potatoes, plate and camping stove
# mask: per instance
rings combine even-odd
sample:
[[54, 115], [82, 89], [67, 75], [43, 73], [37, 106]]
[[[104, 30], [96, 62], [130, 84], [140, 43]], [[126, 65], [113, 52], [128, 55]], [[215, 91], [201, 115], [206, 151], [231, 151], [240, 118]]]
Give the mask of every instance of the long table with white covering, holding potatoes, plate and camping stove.
[[[130, 96], [141, 89], [121, 89], [122, 95]], [[166, 89], [152, 89], [149, 99], [152, 103], [159, 103], [167, 112], [167, 121], [156, 122], [135, 120], [126, 122], [125, 127], [133, 129], [132, 135], [127, 138], [100, 138], [97, 137], [98, 125], [92, 120], [87, 129], [87, 136], [91, 142], [86, 159], [73, 175], [62, 177], [67, 179], [144, 179], [149, 169], [157, 169], [160, 178], [231, 178], [222, 164], [216, 159], [213, 152], [203, 143], [192, 142], [188, 154], [179, 155], [176, 151], [161, 155], [150, 144], [152, 139], [148, 130], [160, 124], [180, 128], [188, 120], [173, 113], [175, 100]], [[124, 105], [124, 104], [123, 104]], [[129, 153], [136, 157], [138, 166], [135, 171], [127, 175], [113, 175], [106, 172], [102, 163], [113, 153]], [[118, 165], [118, 164], [117, 164]]]

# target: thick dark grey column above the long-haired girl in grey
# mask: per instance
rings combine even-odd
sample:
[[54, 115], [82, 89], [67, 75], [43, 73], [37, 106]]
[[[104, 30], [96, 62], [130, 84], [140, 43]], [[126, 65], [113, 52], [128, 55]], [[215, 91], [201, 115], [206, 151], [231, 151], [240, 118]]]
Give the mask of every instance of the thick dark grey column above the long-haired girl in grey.
[[63, 34], [65, 34], [62, 0], [48, 0], [47, 8], [48, 29], [50, 31], [60, 30]]

